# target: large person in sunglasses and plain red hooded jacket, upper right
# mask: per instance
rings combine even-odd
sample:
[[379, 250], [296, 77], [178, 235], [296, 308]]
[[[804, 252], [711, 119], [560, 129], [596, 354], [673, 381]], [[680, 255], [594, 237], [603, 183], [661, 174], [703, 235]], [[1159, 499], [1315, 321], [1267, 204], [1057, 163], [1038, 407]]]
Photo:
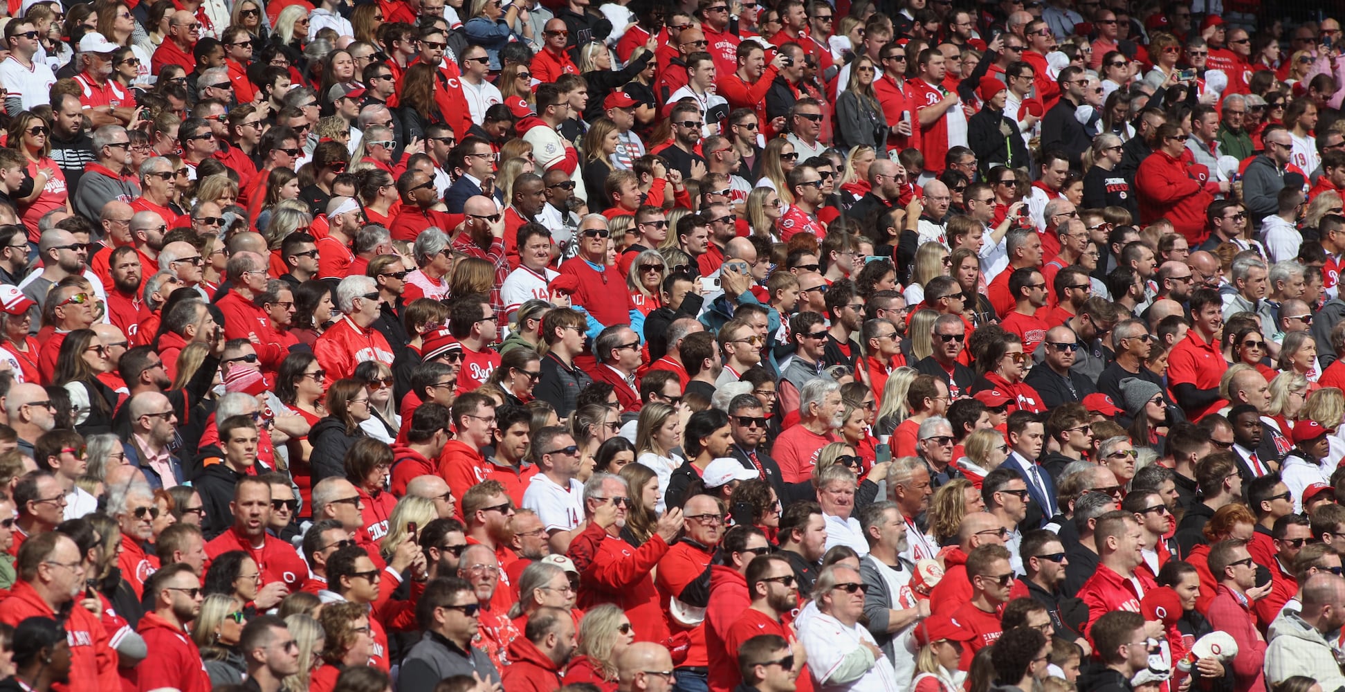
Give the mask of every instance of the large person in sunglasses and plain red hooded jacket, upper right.
[[[1166, 218], [1192, 246], [1200, 245], [1206, 236], [1205, 209], [1215, 197], [1205, 191], [1205, 184], [1192, 175], [1193, 167], [1184, 160], [1186, 135], [1181, 128], [1176, 123], [1159, 125], [1155, 137], [1158, 148], [1135, 172], [1139, 222], [1149, 225]], [[1220, 183], [1220, 191], [1227, 191], [1225, 187], [1227, 183]]]

